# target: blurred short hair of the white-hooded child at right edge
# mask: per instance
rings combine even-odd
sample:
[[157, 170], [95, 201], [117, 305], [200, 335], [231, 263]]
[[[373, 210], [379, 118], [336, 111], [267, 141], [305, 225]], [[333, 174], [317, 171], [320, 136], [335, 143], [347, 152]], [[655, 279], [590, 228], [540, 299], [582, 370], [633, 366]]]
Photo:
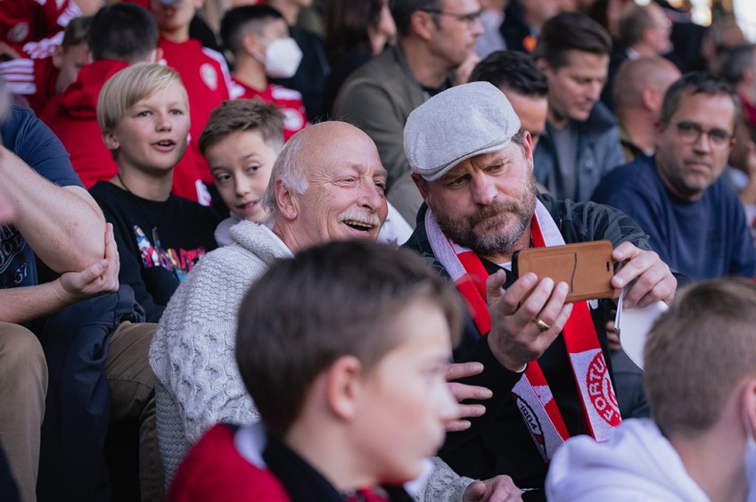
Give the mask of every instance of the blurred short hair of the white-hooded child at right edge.
[[756, 376], [756, 283], [718, 279], [683, 292], [645, 344], [644, 388], [662, 432], [695, 437]]

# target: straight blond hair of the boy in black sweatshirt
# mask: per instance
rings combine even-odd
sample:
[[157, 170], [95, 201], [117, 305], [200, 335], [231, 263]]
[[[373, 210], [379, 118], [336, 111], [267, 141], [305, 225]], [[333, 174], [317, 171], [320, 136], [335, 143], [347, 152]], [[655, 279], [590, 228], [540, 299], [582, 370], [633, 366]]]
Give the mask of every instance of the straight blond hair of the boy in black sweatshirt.
[[176, 70], [152, 62], [133, 64], [105, 82], [97, 99], [97, 124], [111, 133], [126, 116], [129, 108], [158, 91], [178, 84], [187, 102], [186, 89]]

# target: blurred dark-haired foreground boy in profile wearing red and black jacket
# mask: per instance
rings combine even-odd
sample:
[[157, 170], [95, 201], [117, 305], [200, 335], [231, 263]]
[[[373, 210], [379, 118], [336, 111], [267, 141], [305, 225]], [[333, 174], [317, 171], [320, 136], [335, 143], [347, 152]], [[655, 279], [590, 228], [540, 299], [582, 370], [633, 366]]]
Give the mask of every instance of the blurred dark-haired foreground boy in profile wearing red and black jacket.
[[168, 499], [410, 500], [402, 483], [459, 417], [444, 368], [460, 307], [411, 251], [347, 241], [279, 260], [244, 296], [236, 336], [262, 422], [212, 428]]

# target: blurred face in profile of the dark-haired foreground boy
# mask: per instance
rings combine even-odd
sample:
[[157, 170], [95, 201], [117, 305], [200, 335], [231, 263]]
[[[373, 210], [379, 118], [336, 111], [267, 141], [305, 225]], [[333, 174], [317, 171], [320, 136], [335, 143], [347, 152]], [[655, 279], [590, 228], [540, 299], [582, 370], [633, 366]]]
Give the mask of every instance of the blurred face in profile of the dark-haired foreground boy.
[[423, 458], [436, 455], [459, 405], [444, 377], [451, 342], [440, 309], [415, 300], [388, 330], [404, 342], [366, 375], [354, 440], [376, 482], [399, 483], [420, 475]]

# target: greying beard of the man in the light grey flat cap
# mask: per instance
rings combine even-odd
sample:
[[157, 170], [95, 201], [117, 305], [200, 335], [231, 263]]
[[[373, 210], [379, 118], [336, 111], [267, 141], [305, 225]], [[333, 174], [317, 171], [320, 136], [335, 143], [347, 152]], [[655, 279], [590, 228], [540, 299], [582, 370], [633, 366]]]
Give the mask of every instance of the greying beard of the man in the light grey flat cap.
[[[512, 202], [493, 202], [465, 218], [455, 218], [436, 209], [433, 212], [444, 235], [477, 254], [490, 255], [514, 251], [535, 209], [536, 183], [530, 177], [522, 197]], [[508, 220], [509, 226], [505, 226]], [[497, 232], [489, 234], [494, 229]]]

